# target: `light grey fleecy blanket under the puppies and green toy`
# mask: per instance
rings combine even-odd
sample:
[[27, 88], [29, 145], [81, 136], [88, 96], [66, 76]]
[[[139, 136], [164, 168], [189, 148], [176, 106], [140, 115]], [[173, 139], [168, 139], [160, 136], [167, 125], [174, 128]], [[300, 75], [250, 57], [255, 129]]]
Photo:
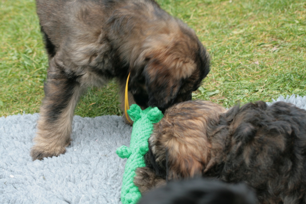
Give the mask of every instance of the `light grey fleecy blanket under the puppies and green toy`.
[[[280, 96], [267, 103], [276, 101], [306, 109], [306, 96]], [[119, 116], [74, 116], [66, 153], [32, 161], [29, 149], [38, 117], [0, 117], [0, 203], [121, 203], [126, 159], [115, 151], [129, 146], [132, 127]]]

